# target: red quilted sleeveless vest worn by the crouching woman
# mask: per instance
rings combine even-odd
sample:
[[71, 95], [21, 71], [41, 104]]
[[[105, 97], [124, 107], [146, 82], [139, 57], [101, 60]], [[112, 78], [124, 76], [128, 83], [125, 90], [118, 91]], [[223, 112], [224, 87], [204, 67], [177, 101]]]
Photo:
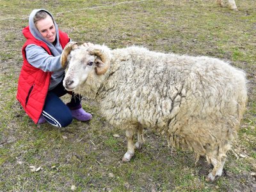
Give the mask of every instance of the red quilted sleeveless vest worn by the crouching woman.
[[[30, 44], [34, 44], [44, 48], [49, 55], [52, 54], [49, 47], [43, 41], [34, 38], [29, 31], [29, 26], [25, 27], [22, 33], [27, 38], [27, 41], [22, 47], [23, 65], [20, 71], [16, 98], [24, 108], [26, 114], [37, 123], [44, 108], [45, 98], [51, 80], [51, 72], [44, 72], [29, 64], [26, 59], [25, 48]], [[60, 30], [59, 37], [61, 47], [64, 48], [70, 38]]]

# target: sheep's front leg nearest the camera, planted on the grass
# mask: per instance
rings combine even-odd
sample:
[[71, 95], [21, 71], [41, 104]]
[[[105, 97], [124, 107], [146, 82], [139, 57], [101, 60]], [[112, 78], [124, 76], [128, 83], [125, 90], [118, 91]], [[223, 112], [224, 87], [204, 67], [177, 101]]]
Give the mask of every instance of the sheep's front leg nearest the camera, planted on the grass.
[[124, 154], [123, 162], [128, 162], [131, 160], [132, 156], [134, 156], [134, 129], [126, 129], [125, 131], [126, 139], [127, 139], [127, 152]]

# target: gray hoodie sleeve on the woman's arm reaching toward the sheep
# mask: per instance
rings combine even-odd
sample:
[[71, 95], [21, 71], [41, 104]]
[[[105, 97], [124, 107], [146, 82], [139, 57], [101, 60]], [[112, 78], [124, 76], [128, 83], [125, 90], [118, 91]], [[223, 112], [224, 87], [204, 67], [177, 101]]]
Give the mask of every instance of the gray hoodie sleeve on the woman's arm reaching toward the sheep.
[[44, 48], [38, 45], [28, 45], [26, 47], [26, 57], [28, 63], [45, 72], [54, 72], [63, 69], [60, 61], [61, 55], [49, 55]]

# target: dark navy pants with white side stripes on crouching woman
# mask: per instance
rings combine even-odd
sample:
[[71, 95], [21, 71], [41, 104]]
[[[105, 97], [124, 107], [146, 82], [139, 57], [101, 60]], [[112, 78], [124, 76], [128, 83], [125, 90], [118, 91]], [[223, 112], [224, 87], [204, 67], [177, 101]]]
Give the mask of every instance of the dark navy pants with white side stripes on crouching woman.
[[[60, 97], [71, 94], [71, 100], [67, 105], [61, 101]], [[47, 122], [59, 128], [66, 127], [72, 122], [71, 110], [81, 108], [81, 96], [69, 92], [63, 87], [63, 83], [58, 84], [47, 93], [42, 115]]]

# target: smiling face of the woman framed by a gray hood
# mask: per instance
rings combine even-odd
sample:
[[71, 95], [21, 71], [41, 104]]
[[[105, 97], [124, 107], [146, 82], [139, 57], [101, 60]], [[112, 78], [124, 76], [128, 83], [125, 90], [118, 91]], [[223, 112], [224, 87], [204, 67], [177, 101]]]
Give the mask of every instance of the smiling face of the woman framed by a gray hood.
[[56, 29], [51, 16], [47, 15], [46, 18], [36, 22], [36, 28], [46, 41], [53, 43], [56, 38]]

